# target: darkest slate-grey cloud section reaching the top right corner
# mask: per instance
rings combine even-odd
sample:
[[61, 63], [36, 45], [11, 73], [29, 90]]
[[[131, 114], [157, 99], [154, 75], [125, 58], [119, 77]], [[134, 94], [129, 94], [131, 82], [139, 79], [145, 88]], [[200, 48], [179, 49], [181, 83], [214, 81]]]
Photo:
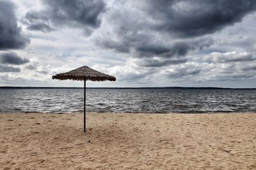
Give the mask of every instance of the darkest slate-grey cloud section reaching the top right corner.
[[175, 32], [179, 37], [211, 34], [227, 25], [240, 22], [254, 11], [256, 1], [251, 0], [182, 0], [143, 1], [141, 10], [157, 20], [153, 29]]

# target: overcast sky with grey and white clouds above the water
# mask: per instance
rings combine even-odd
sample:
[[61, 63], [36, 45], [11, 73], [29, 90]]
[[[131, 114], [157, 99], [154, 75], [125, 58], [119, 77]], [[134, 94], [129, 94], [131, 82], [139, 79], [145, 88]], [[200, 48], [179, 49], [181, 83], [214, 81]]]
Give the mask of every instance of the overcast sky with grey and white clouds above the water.
[[256, 87], [256, 1], [0, 0], [0, 86]]

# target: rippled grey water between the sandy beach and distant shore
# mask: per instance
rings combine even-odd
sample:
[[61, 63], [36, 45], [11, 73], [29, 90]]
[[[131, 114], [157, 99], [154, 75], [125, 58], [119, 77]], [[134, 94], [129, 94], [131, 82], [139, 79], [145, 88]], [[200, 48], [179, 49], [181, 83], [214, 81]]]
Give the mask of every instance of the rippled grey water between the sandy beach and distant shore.
[[[0, 113], [83, 112], [84, 89], [1, 88]], [[255, 89], [86, 89], [86, 111], [94, 113], [255, 112]]]

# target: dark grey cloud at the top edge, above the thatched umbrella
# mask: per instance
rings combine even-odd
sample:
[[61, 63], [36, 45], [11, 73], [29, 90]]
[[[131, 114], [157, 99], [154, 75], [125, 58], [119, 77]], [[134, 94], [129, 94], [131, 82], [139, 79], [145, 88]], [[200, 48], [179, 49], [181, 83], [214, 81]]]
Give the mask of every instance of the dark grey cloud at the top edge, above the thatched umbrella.
[[60, 26], [83, 28], [86, 33], [100, 26], [100, 14], [106, 4], [102, 0], [44, 0], [47, 8], [42, 11], [30, 11], [23, 22], [28, 29], [50, 32]]

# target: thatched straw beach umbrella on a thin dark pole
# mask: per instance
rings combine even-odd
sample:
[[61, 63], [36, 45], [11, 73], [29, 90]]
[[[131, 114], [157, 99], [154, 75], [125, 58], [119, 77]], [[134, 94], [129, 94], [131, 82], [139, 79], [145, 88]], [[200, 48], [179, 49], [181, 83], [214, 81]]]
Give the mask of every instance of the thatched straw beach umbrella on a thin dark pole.
[[116, 81], [114, 76], [100, 73], [88, 66], [79, 67], [66, 73], [56, 74], [52, 79], [84, 81], [84, 132], [86, 131], [86, 81]]

